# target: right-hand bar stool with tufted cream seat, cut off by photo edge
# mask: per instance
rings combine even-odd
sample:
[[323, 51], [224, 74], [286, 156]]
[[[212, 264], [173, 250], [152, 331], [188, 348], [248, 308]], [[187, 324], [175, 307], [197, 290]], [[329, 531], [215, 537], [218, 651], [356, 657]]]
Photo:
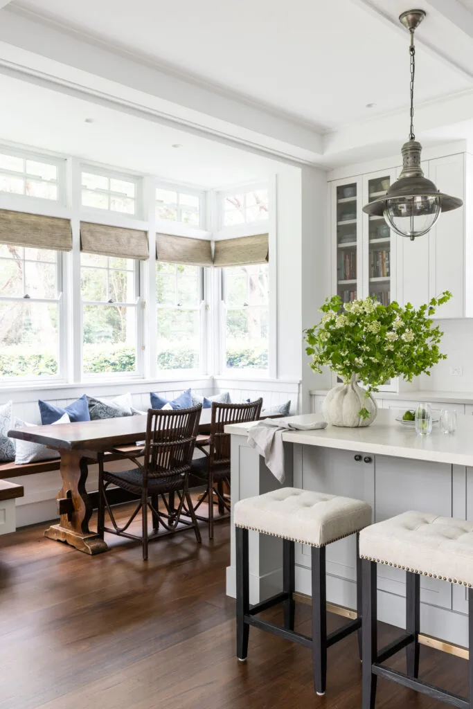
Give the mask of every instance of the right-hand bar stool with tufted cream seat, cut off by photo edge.
[[[473, 708], [473, 523], [405, 512], [360, 533], [363, 577], [363, 709], [374, 709], [377, 678], [391, 679], [460, 709]], [[377, 564], [406, 571], [406, 632], [377, 650]], [[421, 576], [468, 588], [469, 700], [418, 679]], [[382, 663], [406, 647], [406, 674]]]

